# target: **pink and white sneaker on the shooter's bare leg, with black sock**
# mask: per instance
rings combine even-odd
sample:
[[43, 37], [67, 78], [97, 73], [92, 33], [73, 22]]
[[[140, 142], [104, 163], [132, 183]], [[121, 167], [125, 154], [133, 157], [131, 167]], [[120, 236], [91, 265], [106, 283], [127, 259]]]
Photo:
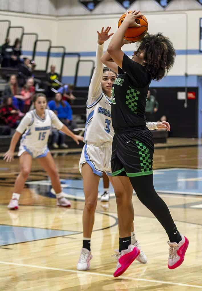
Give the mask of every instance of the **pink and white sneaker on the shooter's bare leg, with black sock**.
[[121, 253], [117, 252], [116, 257], [118, 262], [114, 277], [121, 276], [139, 254], [140, 250], [133, 244], [130, 244], [127, 250], [122, 250]]

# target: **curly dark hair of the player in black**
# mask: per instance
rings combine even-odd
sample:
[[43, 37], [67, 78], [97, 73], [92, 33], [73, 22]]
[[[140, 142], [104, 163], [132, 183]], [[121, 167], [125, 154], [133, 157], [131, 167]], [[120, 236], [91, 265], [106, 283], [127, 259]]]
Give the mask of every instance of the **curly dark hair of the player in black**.
[[138, 51], [144, 52], [145, 68], [156, 81], [161, 80], [175, 62], [176, 53], [173, 44], [162, 33], [147, 33], [142, 38]]

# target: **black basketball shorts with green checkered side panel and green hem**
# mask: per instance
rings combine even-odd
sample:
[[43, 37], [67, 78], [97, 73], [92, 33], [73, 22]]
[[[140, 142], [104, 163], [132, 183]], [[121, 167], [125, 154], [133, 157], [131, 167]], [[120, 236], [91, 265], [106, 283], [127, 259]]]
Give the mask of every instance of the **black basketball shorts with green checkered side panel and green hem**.
[[115, 134], [112, 142], [112, 176], [152, 174], [153, 154], [154, 142], [149, 129]]

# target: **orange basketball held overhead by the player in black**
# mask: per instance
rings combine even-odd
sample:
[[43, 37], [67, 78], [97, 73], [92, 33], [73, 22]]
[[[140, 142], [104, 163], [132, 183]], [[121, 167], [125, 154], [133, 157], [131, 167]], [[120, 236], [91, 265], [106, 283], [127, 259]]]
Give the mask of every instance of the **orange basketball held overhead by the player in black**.
[[[128, 13], [131, 13], [131, 12], [132, 11], [128, 11]], [[119, 18], [118, 27], [121, 25], [125, 17], [126, 17], [126, 13], [121, 15], [121, 17]], [[147, 33], [147, 30], [148, 30], [147, 18], [144, 15], [142, 15], [140, 17], [137, 17], [135, 21], [138, 24], [141, 24], [141, 27], [129, 26], [124, 35], [124, 38], [126, 40], [139, 41]]]

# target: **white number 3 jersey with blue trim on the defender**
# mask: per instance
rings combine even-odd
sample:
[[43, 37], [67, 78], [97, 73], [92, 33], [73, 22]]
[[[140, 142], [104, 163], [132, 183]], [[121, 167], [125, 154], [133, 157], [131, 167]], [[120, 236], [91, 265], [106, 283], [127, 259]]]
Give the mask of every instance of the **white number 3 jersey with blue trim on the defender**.
[[[88, 100], [92, 100], [89, 98]], [[112, 127], [112, 102], [103, 92], [86, 109], [86, 127], [84, 141], [89, 143], [112, 142], [114, 129]]]

